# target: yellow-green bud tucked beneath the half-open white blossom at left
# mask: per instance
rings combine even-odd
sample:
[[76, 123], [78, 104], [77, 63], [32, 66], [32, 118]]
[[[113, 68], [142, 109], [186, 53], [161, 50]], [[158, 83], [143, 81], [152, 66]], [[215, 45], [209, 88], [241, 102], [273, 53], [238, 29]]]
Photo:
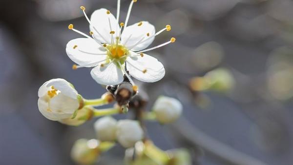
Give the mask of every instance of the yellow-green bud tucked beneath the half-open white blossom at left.
[[75, 118], [72, 119], [72, 117], [70, 117], [70, 118], [59, 120], [58, 122], [62, 124], [78, 126], [78, 125], [84, 124], [86, 121], [90, 120], [92, 117], [93, 117], [93, 111], [89, 108], [83, 108], [78, 110], [78, 113]]

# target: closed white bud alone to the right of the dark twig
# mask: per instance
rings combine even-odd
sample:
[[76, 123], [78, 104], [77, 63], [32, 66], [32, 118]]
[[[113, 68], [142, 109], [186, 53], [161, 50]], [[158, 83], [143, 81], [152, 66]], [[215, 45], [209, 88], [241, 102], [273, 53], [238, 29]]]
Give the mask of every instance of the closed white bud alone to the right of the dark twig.
[[153, 111], [160, 123], [167, 124], [180, 117], [182, 108], [182, 104], [177, 99], [161, 96], [154, 103]]

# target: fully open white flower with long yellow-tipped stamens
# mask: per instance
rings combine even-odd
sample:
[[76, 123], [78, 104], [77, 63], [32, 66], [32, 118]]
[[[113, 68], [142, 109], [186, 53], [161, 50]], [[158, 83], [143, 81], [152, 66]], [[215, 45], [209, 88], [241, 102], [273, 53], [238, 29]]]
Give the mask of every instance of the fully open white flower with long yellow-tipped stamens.
[[[165, 68], [161, 62], [144, 52], [174, 42], [175, 38], [161, 45], [145, 49], [155, 36], [163, 31], [169, 31], [170, 25], [155, 33], [155, 27], [147, 21], [141, 21], [127, 26], [132, 0], [127, 12], [125, 23], [119, 24], [120, 0], [118, 0], [117, 18], [105, 8], [94, 11], [88, 19], [85, 7], [81, 6], [86, 20], [90, 24], [90, 35], [68, 26], [69, 29], [82, 34], [86, 38], [78, 38], [67, 43], [66, 53], [68, 57], [79, 64], [79, 67], [94, 67], [91, 75], [96, 82], [104, 85], [115, 85], [123, 81], [126, 74], [125, 67], [130, 75], [143, 82], [157, 82], [165, 75]], [[123, 31], [122, 31], [123, 28]], [[126, 74], [132, 84], [130, 76]]]

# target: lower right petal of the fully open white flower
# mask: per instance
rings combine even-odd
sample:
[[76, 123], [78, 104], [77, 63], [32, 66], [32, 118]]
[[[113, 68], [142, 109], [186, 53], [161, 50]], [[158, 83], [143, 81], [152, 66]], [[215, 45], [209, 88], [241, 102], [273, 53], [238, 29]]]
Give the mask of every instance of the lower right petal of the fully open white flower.
[[147, 54], [144, 54], [143, 57], [127, 57], [126, 67], [131, 76], [142, 82], [157, 82], [165, 76], [163, 64]]

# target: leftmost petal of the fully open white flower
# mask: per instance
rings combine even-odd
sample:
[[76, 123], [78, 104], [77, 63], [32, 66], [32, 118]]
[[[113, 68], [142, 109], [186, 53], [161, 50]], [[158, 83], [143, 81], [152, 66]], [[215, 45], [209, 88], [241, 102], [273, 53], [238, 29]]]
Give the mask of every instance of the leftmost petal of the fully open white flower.
[[101, 48], [96, 41], [88, 38], [74, 39], [69, 41], [66, 45], [66, 53], [68, 57], [73, 62], [84, 67], [93, 67], [102, 60], [105, 60], [107, 56], [104, 50], [105, 49]]

